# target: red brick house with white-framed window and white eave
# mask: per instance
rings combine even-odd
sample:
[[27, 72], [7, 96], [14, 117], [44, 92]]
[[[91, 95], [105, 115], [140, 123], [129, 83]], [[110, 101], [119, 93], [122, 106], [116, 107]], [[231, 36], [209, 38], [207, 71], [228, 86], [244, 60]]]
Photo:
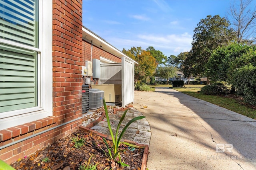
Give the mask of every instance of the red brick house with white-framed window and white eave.
[[84, 77], [101, 83], [101, 77], [82, 76], [86, 61], [121, 63], [115, 80], [122, 84], [122, 105], [134, 102], [136, 62], [82, 26], [82, 0], [0, 6], [1, 160], [10, 164], [80, 127]]

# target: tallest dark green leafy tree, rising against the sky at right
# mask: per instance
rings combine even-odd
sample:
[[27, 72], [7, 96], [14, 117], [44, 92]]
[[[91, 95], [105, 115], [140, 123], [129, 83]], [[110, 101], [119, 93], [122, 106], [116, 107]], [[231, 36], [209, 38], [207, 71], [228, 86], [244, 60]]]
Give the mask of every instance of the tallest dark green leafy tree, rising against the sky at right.
[[205, 64], [214, 49], [234, 40], [234, 31], [228, 28], [229, 25], [228, 21], [220, 18], [219, 15], [213, 17], [209, 15], [197, 24], [194, 29], [191, 55], [185, 59], [186, 63], [192, 64], [190, 72], [194, 76], [204, 74]]

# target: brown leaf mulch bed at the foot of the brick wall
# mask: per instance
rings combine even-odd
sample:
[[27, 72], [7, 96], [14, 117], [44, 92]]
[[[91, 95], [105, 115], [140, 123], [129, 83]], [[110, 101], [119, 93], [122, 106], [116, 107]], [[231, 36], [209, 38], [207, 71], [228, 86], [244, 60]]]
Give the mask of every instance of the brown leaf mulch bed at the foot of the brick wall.
[[[79, 149], [74, 147], [72, 138], [84, 139], [84, 145]], [[108, 141], [108, 145], [111, 146], [112, 141]], [[120, 147], [128, 148], [126, 145]], [[102, 137], [79, 129], [34, 154], [19, 159], [11, 166], [17, 170], [79, 170], [81, 165], [87, 165], [92, 156], [89, 164], [98, 164], [98, 170], [140, 170], [143, 152], [144, 149], [121, 152], [122, 161], [130, 167], [120, 167], [110, 160]]]

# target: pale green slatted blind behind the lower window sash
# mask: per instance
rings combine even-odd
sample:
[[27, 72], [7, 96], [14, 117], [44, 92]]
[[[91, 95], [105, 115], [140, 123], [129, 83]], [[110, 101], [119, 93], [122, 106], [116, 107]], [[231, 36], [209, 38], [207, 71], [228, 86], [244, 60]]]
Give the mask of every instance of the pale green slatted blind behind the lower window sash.
[[37, 106], [37, 53], [0, 44], [0, 112]]

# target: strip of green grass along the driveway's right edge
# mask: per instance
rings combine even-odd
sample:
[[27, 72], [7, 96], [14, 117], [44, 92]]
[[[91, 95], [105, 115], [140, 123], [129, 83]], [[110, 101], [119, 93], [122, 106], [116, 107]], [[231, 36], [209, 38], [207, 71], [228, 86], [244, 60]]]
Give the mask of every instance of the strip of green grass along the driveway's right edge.
[[200, 91], [201, 88], [186, 88], [186, 85], [185, 85], [185, 88], [173, 88], [173, 89], [179, 92], [182, 92], [184, 94], [193, 96], [195, 98], [202, 99], [206, 102], [210, 102], [217, 106], [224, 107], [236, 113], [240, 113], [247, 117], [251, 117], [252, 119], [256, 119], [256, 109], [244, 106], [240, 104], [239, 101], [236, 99], [200, 94], [197, 92]]

